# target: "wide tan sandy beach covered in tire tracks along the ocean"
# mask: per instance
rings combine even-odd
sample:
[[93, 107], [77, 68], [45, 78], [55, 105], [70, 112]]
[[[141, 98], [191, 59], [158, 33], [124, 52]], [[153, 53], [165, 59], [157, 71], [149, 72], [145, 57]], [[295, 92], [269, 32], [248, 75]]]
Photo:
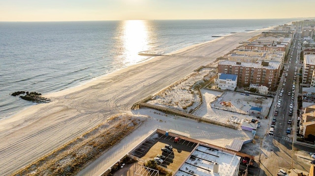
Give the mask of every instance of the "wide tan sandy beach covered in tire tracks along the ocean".
[[262, 31], [221, 37], [45, 95], [51, 103], [34, 105], [0, 121], [0, 175], [14, 173], [114, 114], [131, 113], [133, 103], [210, 64]]

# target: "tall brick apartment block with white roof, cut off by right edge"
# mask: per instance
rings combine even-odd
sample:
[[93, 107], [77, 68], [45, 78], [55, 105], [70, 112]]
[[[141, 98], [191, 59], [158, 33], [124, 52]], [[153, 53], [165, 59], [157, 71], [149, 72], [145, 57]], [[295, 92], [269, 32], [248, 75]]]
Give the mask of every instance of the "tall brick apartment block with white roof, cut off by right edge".
[[315, 87], [315, 55], [305, 54], [303, 64], [303, 85]]

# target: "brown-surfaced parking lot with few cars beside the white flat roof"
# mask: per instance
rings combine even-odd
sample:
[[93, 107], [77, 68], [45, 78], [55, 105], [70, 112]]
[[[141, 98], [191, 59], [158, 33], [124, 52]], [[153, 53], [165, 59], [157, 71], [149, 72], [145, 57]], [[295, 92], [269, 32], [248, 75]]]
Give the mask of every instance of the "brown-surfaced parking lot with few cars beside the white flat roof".
[[[165, 145], [173, 146], [173, 151], [171, 153], [161, 151]], [[189, 156], [195, 146], [196, 143], [183, 139], [175, 143], [174, 137], [156, 133], [131, 154], [145, 161], [149, 161], [150, 159], [155, 158], [158, 154], [162, 154], [165, 156], [165, 159], [160, 166], [175, 171], [179, 168], [187, 156]]]

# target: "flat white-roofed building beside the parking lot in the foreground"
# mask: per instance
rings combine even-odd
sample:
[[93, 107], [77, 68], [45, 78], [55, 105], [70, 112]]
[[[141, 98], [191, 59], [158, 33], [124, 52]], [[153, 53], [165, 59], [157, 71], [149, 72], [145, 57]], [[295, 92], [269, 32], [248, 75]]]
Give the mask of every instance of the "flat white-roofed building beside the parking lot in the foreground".
[[174, 176], [238, 176], [240, 162], [231, 151], [200, 144]]

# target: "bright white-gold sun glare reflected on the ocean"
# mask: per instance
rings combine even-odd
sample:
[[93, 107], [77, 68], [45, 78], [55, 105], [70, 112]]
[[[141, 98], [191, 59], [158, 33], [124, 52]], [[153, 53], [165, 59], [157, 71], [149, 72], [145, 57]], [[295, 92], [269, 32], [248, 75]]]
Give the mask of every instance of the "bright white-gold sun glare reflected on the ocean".
[[125, 21], [123, 30], [125, 62], [136, 63], [139, 61], [138, 52], [149, 49], [146, 22], [141, 20]]

